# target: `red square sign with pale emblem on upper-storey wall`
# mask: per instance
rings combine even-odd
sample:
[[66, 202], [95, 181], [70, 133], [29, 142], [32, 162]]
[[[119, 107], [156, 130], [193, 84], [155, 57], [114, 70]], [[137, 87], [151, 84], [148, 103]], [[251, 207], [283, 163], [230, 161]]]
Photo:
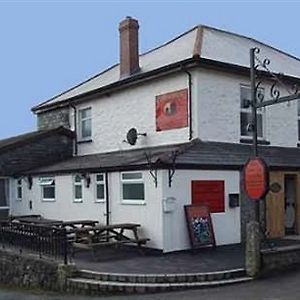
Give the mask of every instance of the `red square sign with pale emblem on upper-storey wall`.
[[188, 126], [188, 90], [156, 96], [156, 131]]

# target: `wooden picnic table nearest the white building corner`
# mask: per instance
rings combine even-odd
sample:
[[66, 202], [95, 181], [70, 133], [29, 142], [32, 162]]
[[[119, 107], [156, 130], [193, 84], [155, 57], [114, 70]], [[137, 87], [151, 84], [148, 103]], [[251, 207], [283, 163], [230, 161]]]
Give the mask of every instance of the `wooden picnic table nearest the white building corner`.
[[140, 247], [149, 241], [148, 238], [139, 237], [138, 228], [140, 226], [136, 223], [122, 223], [73, 229], [75, 233], [73, 246], [78, 249], [92, 250], [101, 246], [120, 244], [136, 244]]

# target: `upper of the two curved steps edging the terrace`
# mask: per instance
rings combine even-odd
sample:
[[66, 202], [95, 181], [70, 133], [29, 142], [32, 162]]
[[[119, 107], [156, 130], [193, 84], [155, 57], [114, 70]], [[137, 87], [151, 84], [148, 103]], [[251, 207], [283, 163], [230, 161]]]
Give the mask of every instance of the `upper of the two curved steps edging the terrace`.
[[179, 273], [179, 274], [131, 274], [131, 273], [103, 273], [90, 270], [80, 270], [75, 275], [79, 278], [94, 279], [100, 281], [116, 281], [131, 283], [186, 283], [209, 282], [243, 277], [245, 269], [231, 269], [206, 273]]

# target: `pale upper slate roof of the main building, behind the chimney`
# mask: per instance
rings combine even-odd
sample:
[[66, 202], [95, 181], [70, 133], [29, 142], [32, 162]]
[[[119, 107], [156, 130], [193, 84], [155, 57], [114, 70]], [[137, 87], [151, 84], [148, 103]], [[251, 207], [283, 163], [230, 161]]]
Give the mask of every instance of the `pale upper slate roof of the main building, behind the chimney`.
[[[260, 48], [260, 57], [271, 60], [270, 69], [275, 73], [284, 73], [300, 78], [300, 60], [281, 50], [275, 49], [253, 38], [227, 32], [209, 26], [199, 25], [173, 40], [140, 55], [140, 74], [197, 57], [215, 62], [249, 67], [249, 49]], [[120, 80], [119, 64], [96, 74], [79, 85], [57, 95], [35, 107], [37, 111], [49, 105], [56, 105], [73, 97], [85, 95]], [[136, 75], [133, 75], [134, 77]]]

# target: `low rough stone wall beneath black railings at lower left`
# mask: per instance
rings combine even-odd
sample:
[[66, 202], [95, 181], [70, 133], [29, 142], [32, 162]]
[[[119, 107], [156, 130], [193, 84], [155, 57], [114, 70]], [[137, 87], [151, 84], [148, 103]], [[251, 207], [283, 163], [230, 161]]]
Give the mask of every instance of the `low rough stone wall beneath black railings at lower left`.
[[7, 286], [64, 291], [74, 266], [60, 265], [37, 255], [0, 250], [0, 283]]

